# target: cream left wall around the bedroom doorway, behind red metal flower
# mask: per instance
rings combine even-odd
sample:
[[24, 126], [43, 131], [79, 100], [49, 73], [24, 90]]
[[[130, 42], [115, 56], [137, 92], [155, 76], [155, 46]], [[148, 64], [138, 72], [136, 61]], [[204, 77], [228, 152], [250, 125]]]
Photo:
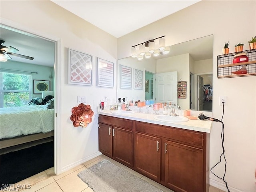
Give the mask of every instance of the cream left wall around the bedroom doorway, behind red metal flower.
[[[96, 86], [97, 57], [114, 62], [116, 74], [117, 39], [71, 14], [51, 1], [1, 1], [1, 19], [9, 20], [46, 37], [58, 37], [62, 41], [60, 64], [60, 149], [62, 171], [98, 155], [98, 116], [96, 106], [106, 96], [116, 98], [116, 76], [114, 88]], [[92, 86], [68, 84], [68, 48], [93, 56]], [[86, 96], [87, 104], [94, 111], [92, 123], [86, 128], [72, 125], [71, 109], [78, 106], [77, 96]]]

